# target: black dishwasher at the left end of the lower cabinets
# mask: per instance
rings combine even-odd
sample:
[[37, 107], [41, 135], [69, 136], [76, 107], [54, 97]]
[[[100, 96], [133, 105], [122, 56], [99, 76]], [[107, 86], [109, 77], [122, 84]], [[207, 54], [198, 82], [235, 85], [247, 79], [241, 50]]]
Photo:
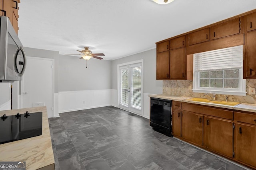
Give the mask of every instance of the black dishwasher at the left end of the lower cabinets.
[[150, 98], [150, 126], [166, 136], [172, 136], [172, 101]]

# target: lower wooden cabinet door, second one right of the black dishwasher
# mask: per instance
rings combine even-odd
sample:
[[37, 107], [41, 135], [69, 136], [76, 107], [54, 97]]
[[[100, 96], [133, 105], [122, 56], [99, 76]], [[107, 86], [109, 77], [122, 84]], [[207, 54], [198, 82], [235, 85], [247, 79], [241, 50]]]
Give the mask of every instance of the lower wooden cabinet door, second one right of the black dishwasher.
[[197, 145], [203, 145], [203, 116], [182, 111], [182, 137]]

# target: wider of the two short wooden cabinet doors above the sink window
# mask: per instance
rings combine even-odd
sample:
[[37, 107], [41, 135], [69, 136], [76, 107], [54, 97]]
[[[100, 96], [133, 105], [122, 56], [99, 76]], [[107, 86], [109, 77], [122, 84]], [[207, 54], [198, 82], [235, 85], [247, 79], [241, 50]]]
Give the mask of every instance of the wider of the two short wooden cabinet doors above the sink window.
[[240, 18], [214, 25], [211, 29], [212, 39], [222, 38], [240, 33]]

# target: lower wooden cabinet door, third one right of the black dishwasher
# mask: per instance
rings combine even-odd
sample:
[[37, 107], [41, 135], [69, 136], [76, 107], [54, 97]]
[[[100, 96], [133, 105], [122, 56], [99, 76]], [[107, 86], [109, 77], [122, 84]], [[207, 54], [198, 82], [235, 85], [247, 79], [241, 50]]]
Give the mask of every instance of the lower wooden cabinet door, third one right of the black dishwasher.
[[233, 122], [205, 116], [204, 146], [233, 158]]

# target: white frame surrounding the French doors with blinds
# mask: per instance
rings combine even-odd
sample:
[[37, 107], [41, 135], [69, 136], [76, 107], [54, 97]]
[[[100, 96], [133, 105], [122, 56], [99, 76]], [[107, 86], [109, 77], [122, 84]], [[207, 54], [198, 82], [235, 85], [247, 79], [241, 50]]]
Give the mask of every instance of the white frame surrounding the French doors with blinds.
[[127, 109], [124, 109], [124, 108], [121, 108], [120, 107], [120, 67], [122, 66], [126, 66], [126, 65], [131, 65], [131, 64], [138, 64], [138, 63], [141, 63], [141, 115], [143, 115], [143, 94], [144, 94], [144, 59], [141, 59], [141, 60], [136, 60], [136, 61], [131, 61], [131, 62], [128, 62], [128, 63], [122, 63], [122, 64], [118, 64], [117, 65], [117, 86], [118, 86], [118, 108], [120, 109], [123, 109], [123, 110], [126, 110], [126, 111], [129, 111], [131, 113], [134, 113], [136, 115], [139, 115], [138, 113], [134, 112], [134, 111], [131, 111], [130, 110], [127, 110]]

